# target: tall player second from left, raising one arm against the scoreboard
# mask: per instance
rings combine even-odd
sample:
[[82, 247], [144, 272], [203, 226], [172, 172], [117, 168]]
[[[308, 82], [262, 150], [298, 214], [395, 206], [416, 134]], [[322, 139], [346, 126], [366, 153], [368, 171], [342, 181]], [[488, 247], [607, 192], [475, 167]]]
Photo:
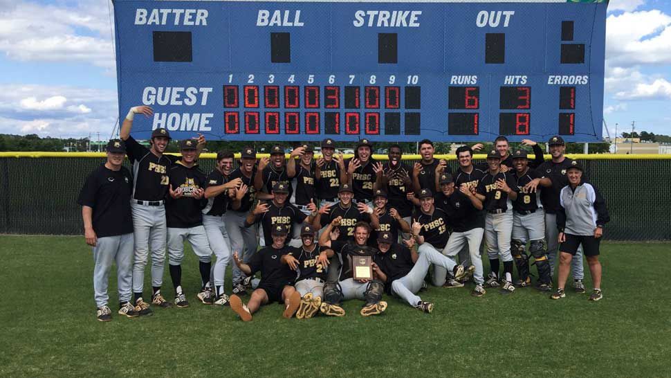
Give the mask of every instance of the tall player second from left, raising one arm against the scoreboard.
[[[151, 303], [159, 307], [170, 307], [170, 303], [160, 294], [163, 284], [163, 268], [165, 264], [165, 243], [167, 226], [165, 220], [165, 198], [168, 195], [168, 170], [177, 160], [176, 156], [164, 155], [170, 141], [167, 129], [158, 128], [151, 132], [151, 148], [138, 143], [131, 136], [133, 119], [136, 114], [149, 117], [154, 111], [147, 106], [131, 107], [124, 119], [120, 138], [126, 142], [126, 154], [133, 164], [133, 211], [134, 260], [133, 260], [133, 293], [136, 311], [140, 315], [153, 314], [149, 303], [143, 300], [145, 282], [145, 266], [149, 249], [151, 249]], [[205, 144], [205, 138], [199, 137], [196, 145], [196, 157]]]

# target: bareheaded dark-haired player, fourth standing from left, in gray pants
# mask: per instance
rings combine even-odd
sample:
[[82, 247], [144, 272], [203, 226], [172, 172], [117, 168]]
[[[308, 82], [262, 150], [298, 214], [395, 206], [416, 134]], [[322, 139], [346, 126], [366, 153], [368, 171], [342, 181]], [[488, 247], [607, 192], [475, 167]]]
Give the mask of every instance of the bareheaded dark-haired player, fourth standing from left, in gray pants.
[[244, 193], [246, 188], [243, 186], [242, 179], [237, 178], [229, 180], [233, 169], [233, 153], [229, 151], [220, 151], [217, 153], [217, 166], [210, 172], [207, 179], [207, 188], [205, 188], [205, 199], [208, 204], [203, 208], [203, 227], [208, 234], [210, 248], [217, 256], [217, 262], [214, 262], [212, 277], [214, 278], [214, 304], [228, 305], [228, 296], [223, 291], [223, 280], [226, 275], [226, 267], [230, 262], [230, 239], [226, 224], [223, 223], [223, 215], [226, 214], [229, 201], [232, 201], [232, 208], [240, 207], [240, 199], [232, 197], [238, 193]]

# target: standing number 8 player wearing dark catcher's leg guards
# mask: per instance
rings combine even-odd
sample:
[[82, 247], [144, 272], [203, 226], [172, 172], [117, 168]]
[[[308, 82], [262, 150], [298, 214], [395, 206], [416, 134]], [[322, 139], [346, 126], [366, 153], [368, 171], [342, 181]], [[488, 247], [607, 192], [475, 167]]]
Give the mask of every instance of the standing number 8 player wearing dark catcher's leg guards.
[[529, 253], [535, 259], [538, 269], [538, 289], [548, 291], [552, 286], [550, 264], [545, 253], [545, 214], [540, 196], [526, 189], [526, 184], [533, 179], [540, 178], [537, 171], [528, 167], [528, 158], [525, 150], [515, 150], [513, 153], [512, 174], [517, 181], [519, 194], [513, 201], [513, 238], [511, 251], [517, 265], [520, 279], [516, 286], [525, 287], [531, 284], [529, 278], [529, 258], [526, 254], [526, 242], [530, 241]]

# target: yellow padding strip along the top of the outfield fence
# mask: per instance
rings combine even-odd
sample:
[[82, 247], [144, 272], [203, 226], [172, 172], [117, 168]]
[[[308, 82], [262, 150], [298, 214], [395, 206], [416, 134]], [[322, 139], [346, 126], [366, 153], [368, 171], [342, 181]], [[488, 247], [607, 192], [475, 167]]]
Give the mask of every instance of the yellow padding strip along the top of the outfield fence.
[[[178, 155], [169, 153], [171, 155]], [[257, 157], [270, 156], [270, 154], [257, 154]], [[533, 154], [532, 154], [533, 156]], [[572, 159], [578, 160], [671, 160], [671, 154], [567, 154]], [[0, 152], [0, 158], [104, 158], [104, 152]], [[203, 159], [215, 159], [217, 154], [203, 153]], [[288, 158], [289, 155], [286, 154]], [[320, 157], [320, 155], [315, 155]], [[345, 158], [352, 157], [351, 154], [344, 155]], [[374, 159], [387, 160], [387, 155], [373, 155]], [[436, 154], [436, 159], [456, 160], [457, 156], [454, 154]], [[486, 154], [475, 154], [474, 159], [486, 159]], [[239, 159], [240, 154], [235, 154], [235, 159]], [[421, 155], [404, 154], [403, 160], [420, 160]], [[550, 155], [545, 155], [545, 159], [551, 159]]]

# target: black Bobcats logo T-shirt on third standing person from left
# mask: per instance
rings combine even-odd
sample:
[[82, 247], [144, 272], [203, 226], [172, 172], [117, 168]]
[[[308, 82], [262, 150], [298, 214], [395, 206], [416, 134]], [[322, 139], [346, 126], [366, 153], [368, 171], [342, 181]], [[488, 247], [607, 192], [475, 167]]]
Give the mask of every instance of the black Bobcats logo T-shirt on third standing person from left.
[[174, 199], [167, 196], [165, 200], [165, 219], [168, 227], [190, 228], [203, 224], [203, 207], [208, 200], [205, 197], [195, 199], [193, 192], [205, 188], [207, 179], [198, 165], [192, 168], [185, 167], [178, 161], [170, 167], [168, 172], [172, 190], [182, 188], [182, 197]]

